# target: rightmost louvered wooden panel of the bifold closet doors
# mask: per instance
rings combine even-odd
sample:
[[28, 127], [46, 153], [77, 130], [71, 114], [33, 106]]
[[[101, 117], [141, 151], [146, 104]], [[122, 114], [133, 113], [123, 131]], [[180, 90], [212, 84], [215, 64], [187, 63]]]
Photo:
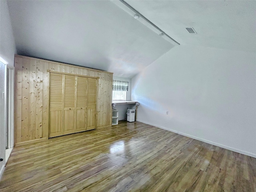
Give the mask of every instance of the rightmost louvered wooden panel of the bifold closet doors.
[[97, 79], [88, 78], [87, 130], [96, 129]]

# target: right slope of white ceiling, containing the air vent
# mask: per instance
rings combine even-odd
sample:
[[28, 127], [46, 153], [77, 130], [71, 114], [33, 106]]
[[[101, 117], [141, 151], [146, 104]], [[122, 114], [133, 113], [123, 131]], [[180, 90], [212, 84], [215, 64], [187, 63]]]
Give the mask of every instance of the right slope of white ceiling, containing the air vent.
[[126, 2], [180, 44], [256, 52], [255, 0]]

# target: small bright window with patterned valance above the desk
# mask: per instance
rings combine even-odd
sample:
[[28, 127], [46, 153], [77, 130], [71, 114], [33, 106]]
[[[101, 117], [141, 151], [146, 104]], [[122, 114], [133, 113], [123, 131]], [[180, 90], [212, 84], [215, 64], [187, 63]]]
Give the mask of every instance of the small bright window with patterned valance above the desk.
[[112, 101], [125, 101], [126, 92], [128, 91], [128, 81], [113, 80]]

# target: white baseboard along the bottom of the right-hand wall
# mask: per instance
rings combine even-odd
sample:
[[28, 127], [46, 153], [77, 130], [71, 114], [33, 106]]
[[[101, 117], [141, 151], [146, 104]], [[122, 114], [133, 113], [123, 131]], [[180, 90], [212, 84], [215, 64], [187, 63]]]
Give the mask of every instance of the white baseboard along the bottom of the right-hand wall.
[[229, 146], [226, 146], [226, 145], [222, 145], [222, 144], [219, 144], [219, 143], [215, 143], [215, 142], [212, 142], [212, 141], [209, 141], [209, 140], [205, 140], [205, 139], [202, 139], [202, 138], [198, 138], [198, 137], [196, 137], [196, 136], [192, 136], [192, 135], [189, 135], [189, 134], [186, 134], [186, 133], [178, 132], [177, 130], [172, 130], [172, 129], [169, 129], [169, 128], [166, 128], [166, 127], [154, 125], [154, 124], [152, 124], [152, 123], [144, 122], [144, 121], [141, 121], [141, 120], [137, 120], [137, 121], [138, 121], [138, 122], [145, 123], [145, 124], [148, 124], [148, 125], [152, 125], [152, 126], [154, 126], [154, 127], [158, 127], [158, 128], [161, 128], [161, 129], [170, 131], [170, 132], [174, 132], [174, 133], [177, 133], [177, 134], [186, 136], [186, 137], [190, 137], [190, 138], [192, 138], [192, 139], [196, 139], [196, 140], [199, 140], [199, 141], [208, 143], [208, 144], [212, 144], [212, 145], [215, 145], [215, 146], [224, 148], [224, 149], [228, 149], [228, 150], [231, 150], [231, 151], [234, 151], [234, 152], [238, 152], [238, 153], [241, 153], [241, 154], [248, 155], [248, 156], [251, 156], [251, 157], [256, 158], [256, 154], [253, 154], [253, 153], [250, 153], [250, 152], [246, 152], [246, 151], [239, 150], [239, 149], [236, 149], [236, 148], [232, 148], [232, 147], [229, 147]]

